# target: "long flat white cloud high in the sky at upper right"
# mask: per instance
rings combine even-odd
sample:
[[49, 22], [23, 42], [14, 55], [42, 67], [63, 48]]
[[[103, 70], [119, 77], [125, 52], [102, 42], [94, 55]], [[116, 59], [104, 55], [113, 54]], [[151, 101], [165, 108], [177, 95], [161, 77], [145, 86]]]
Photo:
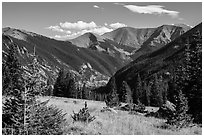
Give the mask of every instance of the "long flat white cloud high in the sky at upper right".
[[136, 6], [136, 5], [123, 5], [125, 8], [129, 9], [132, 12], [141, 13], [141, 14], [167, 14], [173, 18], [178, 17], [178, 11], [171, 11], [164, 9], [164, 6], [161, 5], [147, 5], [147, 6]]

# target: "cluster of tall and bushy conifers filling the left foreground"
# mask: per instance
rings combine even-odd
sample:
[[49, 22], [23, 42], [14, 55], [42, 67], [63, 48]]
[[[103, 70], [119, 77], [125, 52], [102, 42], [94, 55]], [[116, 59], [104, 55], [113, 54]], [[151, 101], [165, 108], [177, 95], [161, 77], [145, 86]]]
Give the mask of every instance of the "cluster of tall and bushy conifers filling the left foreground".
[[16, 57], [16, 45], [10, 46], [3, 62], [3, 135], [59, 135], [63, 134], [65, 114], [48, 101], [36, 99], [46, 91], [39, 77], [35, 54], [26, 74]]

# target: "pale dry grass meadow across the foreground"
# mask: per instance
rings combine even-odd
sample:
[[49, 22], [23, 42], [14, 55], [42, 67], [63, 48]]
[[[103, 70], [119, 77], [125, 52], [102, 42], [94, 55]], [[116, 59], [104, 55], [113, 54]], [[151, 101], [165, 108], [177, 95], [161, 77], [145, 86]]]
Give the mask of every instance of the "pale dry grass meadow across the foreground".
[[[100, 112], [106, 106], [104, 102], [67, 99], [58, 97], [43, 97], [41, 100], [50, 99], [50, 105], [56, 105], [67, 113], [68, 125], [65, 126], [65, 134], [102, 134], [102, 135], [194, 135], [202, 134], [201, 127], [183, 128], [179, 131], [164, 129], [165, 120], [142, 115], [130, 115], [128, 112], [117, 111]], [[78, 112], [84, 107], [87, 101], [91, 115], [96, 116], [96, 120], [89, 124], [81, 122], [73, 123], [71, 114]], [[149, 110], [156, 111], [158, 108], [149, 107]]]

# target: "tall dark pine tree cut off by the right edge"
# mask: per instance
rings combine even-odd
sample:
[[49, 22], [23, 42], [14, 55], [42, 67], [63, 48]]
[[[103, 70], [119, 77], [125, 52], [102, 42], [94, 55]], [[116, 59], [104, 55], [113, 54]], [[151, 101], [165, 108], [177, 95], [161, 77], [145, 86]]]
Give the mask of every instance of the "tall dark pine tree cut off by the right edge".
[[188, 91], [189, 113], [193, 115], [194, 122], [202, 123], [202, 34], [199, 30], [188, 45], [190, 80], [185, 90]]

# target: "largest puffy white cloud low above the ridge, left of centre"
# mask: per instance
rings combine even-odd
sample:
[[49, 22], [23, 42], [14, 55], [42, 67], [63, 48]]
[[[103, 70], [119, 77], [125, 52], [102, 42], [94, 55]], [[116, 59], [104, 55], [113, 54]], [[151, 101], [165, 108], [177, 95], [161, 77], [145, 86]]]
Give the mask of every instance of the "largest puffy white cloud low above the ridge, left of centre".
[[71, 22], [65, 22], [65, 23], [60, 23], [60, 27], [64, 28], [64, 29], [78, 29], [78, 30], [82, 30], [82, 29], [92, 29], [92, 28], [96, 28], [97, 25], [95, 22], [83, 22], [83, 21], [78, 21], [75, 23], [71, 23]]

